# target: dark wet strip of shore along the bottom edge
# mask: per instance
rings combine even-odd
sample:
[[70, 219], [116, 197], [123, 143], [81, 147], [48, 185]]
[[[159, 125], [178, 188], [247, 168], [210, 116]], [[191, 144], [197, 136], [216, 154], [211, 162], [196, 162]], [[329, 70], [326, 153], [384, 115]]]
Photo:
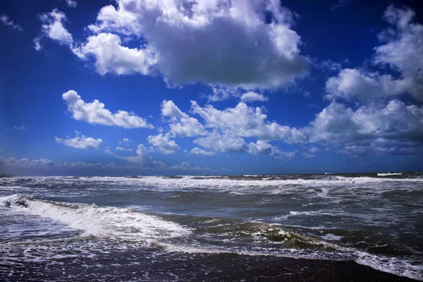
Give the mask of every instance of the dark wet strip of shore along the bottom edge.
[[3, 281], [417, 281], [353, 261], [176, 252], [162, 252], [152, 260], [151, 252], [134, 251], [98, 257], [95, 264], [92, 259], [82, 257], [76, 264], [66, 263], [66, 259], [57, 259], [55, 263], [17, 262], [9, 273], [0, 263], [0, 278]]

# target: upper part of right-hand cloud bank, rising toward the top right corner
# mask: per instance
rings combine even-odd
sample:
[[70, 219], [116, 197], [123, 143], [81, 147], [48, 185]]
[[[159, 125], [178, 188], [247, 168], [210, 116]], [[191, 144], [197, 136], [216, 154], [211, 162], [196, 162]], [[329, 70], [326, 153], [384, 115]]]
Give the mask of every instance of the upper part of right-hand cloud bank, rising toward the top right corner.
[[393, 27], [379, 34], [386, 44], [375, 47], [375, 66], [391, 68], [398, 77], [360, 68], [346, 68], [326, 81], [329, 99], [357, 99], [362, 104], [391, 99], [408, 93], [423, 101], [423, 25], [412, 23], [415, 12], [410, 8], [388, 6], [384, 18]]

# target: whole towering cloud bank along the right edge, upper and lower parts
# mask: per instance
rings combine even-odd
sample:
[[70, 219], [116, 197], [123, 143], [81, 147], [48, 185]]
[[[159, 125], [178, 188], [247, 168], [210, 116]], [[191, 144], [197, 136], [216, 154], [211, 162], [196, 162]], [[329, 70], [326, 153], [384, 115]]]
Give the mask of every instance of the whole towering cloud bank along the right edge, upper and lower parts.
[[410, 8], [388, 6], [391, 27], [379, 34], [371, 59], [377, 71], [344, 68], [326, 80], [331, 104], [301, 129], [310, 142], [354, 156], [423, 152], [423, 108], [399, 100], [410, 94], [423, 101], [423, 25], [412, 23], [414, 16]]

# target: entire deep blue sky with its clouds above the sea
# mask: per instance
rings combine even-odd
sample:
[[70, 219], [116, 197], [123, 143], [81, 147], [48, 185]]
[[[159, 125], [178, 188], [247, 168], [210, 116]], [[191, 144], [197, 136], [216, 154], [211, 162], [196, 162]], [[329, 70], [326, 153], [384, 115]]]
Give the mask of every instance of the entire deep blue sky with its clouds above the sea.
[[423, 171], [419, 1], [0, 6], [0, 173]]

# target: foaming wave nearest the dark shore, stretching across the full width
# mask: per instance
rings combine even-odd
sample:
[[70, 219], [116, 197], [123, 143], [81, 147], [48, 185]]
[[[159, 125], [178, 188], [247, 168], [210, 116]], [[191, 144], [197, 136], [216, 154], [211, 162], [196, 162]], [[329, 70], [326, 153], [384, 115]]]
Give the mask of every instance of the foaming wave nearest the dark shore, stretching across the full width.
[[[319, 240], [275, 223], [207, 218], [202, 223], [197, 222], [195, 228], [189, 228], [165, 220], [166, 217], [161, 218], [133, 209], [47, 202], [23, 195], [0, 197], [0, 202], [10, 203], [10, 208], [18, 212], [49, 218], [79, 230], [80, 234], [75, 238], [88, 240], [93, 236], [100, 239], [95, 241], [99, 242], [98, 246], [91, 241], [85, 244], [85, 247], [80, 247], [79, 241], [73, 242], [77, 249], [86, 249], [87, 246], [95, 247], [96, 250], [102, 246], [106, 248], [105, 240], [117, 239], [118, 242], [123, 240], [130, 244], [145, 243], [148, 246], [161, 247], [167, 252], [232, 252], [239, 255], [274, 255], [307, 259], [351, 259], [374, 269], [423, 280], [421, 259], [370, 254], [355, 247], [341, 245], [341, 242], [337, 241], [339, 238], [333, 237], [333, 234], [326, 238], [321, 237], [326, 240]], [[336, 243], [333, 243], [334, 240]], [[32, 240], [28, 243], [35, 244]], [[38, 244], [42, 245], [43, 242]], [[9, 245], [5, 246], [10, 250], [16, 246]], [[66, 251], [66, 247], [68, 246], [63, 245], [63, 250]], [[39, 247], [39, 250], [44, 249]], [[51, 255], [54, 257], [54, 253]], [[34, 251], [31, 259], [38, 259], [37, 256], [38, 251]], [[78, 257], [75, 254], [73, 256]], [[90, 252], [85, 256], [90, 256]]]

